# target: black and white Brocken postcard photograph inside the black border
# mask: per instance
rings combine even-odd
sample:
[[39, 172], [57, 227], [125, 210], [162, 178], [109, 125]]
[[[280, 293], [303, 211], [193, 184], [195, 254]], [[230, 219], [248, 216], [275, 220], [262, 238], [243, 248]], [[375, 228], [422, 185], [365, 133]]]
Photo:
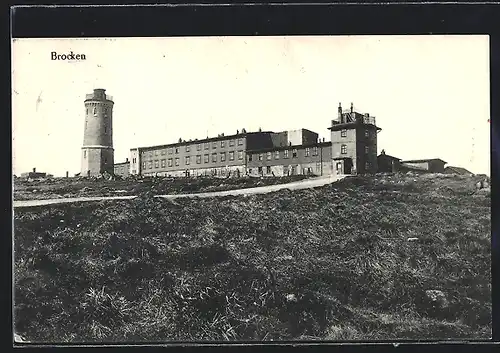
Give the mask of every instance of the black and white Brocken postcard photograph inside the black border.
[[11, 48], [16, 343], [491, 339], [487, 35]]

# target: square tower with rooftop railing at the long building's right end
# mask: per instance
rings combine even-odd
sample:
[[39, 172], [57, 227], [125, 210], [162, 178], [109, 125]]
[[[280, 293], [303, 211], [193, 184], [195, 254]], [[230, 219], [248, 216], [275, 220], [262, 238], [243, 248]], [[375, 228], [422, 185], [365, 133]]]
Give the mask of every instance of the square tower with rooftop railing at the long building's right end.
[[332, 159], [338, 174], [372, 174], [377, 172], [377, 134], [381, 128], [375, 117], [361, 114], [351, 108], [342, 110], [339, 104], [338, 119], [332, 120]]

